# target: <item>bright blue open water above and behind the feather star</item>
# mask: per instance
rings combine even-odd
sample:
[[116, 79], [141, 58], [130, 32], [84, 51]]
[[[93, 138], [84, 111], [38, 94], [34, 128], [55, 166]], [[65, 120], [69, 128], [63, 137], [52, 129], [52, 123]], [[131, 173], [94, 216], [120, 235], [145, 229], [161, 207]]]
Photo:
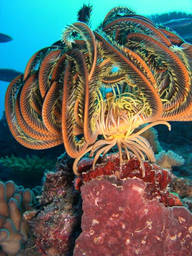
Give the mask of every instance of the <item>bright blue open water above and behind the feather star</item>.
[[[76, 22], [77, 11], [83, 3], [93, 5], [92, 28], [99, 25], [106, 13], [117, 5], [128, 6], [142, 15], [172, 11], [192, 13], [191, 0], [1, 1], [0, 33], [10, 35], [13, 40], [0, 44], [0, 69], [24, 72], [28, 60], [36, 51], [60, 39], [62, 28]], [[8, 84], [9, 82], [0, 81], [0, 118]]]

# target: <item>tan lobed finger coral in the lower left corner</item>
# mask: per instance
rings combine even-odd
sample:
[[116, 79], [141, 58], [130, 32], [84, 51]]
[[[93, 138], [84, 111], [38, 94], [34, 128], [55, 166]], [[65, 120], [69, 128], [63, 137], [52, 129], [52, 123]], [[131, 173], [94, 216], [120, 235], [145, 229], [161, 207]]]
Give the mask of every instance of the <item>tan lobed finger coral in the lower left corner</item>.
[[23, 212], [34, 209], [30, 189], [16, 186], [13, 181], [0, 181], [0, 255], [16, 255], [31, 236], [31, 228]]

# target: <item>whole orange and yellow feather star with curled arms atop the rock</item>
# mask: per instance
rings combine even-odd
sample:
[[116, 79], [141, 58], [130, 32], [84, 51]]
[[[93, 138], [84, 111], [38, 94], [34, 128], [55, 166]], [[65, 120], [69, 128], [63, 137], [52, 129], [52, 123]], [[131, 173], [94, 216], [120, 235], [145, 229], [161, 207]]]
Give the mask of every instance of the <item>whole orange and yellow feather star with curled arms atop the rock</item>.
[[114, 8], [96, 31], [76, 22], [30, 59], [6, 93], [10, 130], [30, 148], [63, 142], [77, 175], [81, 157], [90, 152], [94, 168], [115, 145], [120, 169], [122, 151], [154, 162], [142, 132], [192, 120], [191, 66], [192, 46], [180, 36]]

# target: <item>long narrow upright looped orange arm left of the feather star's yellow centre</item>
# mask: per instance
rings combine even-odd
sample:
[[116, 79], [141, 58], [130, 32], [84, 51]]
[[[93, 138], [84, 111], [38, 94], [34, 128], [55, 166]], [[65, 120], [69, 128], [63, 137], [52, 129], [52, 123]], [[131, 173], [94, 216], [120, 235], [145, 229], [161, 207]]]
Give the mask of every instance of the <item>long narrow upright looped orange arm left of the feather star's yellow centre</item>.
[[[62, 98], [63, 142], [66, 151], [73, 158], [81, 155], [88, 145], [97, 138], [96, 130], [94, 132], [92, 125], [91, 112], [93, 113], [93, 111], [90, 107], [89, 86], [86, 60], [78, 49], [74, 49], [65, 70]], [[79, 124], [82, 124], [80, 127], [83, 127], [80, 140], [77, 138], [78, 134], [75, 133]]]

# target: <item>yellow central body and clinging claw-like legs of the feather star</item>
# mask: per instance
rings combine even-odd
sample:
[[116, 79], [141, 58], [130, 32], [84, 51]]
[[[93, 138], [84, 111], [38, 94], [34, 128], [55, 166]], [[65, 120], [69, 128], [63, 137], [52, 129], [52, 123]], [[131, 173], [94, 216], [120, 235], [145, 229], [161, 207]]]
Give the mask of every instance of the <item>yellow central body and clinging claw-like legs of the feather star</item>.
[[[120, 169], [122, 166], [122, 150], [126, 152], [127, 158], [130, 159], [131, 150], [140, 162], [145, 160], [145, 156], [151, 162], [155, 162], [154, 152], [148, 141], [140, 136], [145, 130], [156, 124], [166, 124], [170, 129], [170, 125], [162, 120], [155, 121], [159, 112], [149, 114], [153, 112], [152, 106], [149, 102], [144, 102], [141, 94], [137, 93], [119, 93], [118, 95], [114, 91], [106, 93], [105, 99], [100, 95], [97, 108], [95, 109], [95, 127], [99, 135], [103, 136], [103, 139], [97, 140], [93, 145], [89, 146], [83, 154], [78, 156], [74, 162], [74, 172], [76, 164], [80, 158], [90, 152], [90, 157], [94, 156], [93, 168], [97, 162], [99, 156], [103, 153], [102, 157], [117, 144], [120, 159]], [[154, 100], [151, 104], [153, 105]], [[160, 112], [161, 113], [161, 112]], [[153, 116], [153, 117], [152, 117]], [[142, 124], [150, 122], [142, 129], [137, 130]], [[154, 121], [153, 121], [154, 120]]]

